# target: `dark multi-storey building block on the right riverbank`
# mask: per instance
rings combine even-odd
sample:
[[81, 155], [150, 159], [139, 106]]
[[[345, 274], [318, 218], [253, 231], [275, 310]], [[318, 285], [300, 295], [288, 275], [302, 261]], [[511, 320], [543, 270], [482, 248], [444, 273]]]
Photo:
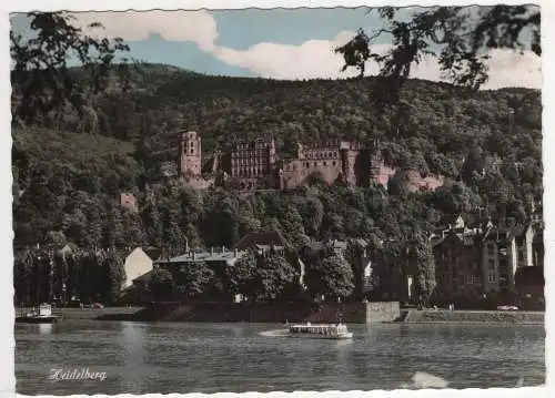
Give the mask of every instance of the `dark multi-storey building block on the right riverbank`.
[[533, 242], [529, 223], [494, 225], [491, 220], [460, 215], [432, 237], [436, 298], [467, 304], [487, 297], [514, 300], [515, 275], [534, 265]]

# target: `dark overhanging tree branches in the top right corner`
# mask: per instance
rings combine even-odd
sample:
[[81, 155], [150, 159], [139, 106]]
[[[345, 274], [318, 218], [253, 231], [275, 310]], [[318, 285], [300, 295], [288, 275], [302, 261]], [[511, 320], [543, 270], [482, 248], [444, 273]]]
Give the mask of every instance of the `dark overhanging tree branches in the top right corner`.
[[[529, 49], [542, 54], [538, 7], [482, 7], [477, 16], [464, 7], [435, 7], [416, 11], [408, 20], [397, 18], [397, 11], [372, 9], [384, 27], [372, 35], [361, 29], [335, 50], [345, 61], [343, 70], [354, 67], [361, 76], [366, 61], [379, 63], [382, 79], [374, 85], [374, 98], [380, 108], [398, 103], [401, 86], [425, 55], [437, 58], [454, 84], [477, 90], [488, 76], [485, 49]], [[522, 41], [523, 32], [531, 33], [529, 44]], [[385, 54], [373, 52], [375, 41], [387, 34], [393, 37], [393, 48]]]

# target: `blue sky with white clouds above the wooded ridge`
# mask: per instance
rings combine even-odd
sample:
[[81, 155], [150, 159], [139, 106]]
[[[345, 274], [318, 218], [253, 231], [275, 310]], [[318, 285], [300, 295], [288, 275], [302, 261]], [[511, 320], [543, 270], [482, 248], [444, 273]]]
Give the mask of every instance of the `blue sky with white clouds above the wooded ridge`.
[[[404, 9], [406, 19], [416, 9]], [[472, 10], [471, 10], [472, 12]], [[95, 34], [120, 37], [130, 45], [131, 58], [165, 63], [205, 74], [272, 79], [344, 79], [340, 54], [333, 49], [347, 42], [359, 28], [372, 33], [383, 21], [366, 8], [346, 9], [248, 9], [218, 11], [80, 12], [75, 23], [101, 22]], [[24, 14], [11, 17], [12, 29], [29, 34]], [[375, 42], [374, 51], [386, 51], [391, 37]], [[529, 51], [492, 50], [490, 81], [484, 89], [542, 88], [541, 58]], [[369, 62], [366, 74], [376, 74]], [[441, 81], [432, 57], [416, 65], [413, 78]]]

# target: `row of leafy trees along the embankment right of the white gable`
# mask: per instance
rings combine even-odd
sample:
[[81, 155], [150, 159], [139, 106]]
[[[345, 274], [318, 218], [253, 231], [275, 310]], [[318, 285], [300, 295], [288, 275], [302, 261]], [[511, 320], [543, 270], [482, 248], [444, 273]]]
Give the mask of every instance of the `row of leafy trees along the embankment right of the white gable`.
[[[365, 280], [364, 268], [370, 259], [371, 279]], [[389, 242], [380, 246], [362, 246], [353, 241], [344, 254], [337, 254], [332, 247], [320, 251], [305, 247], [299, 253], [289, 252], [289, 255], [250, 251], [224, 269], [212, 268], [204, 262], [158, 268], [148, 286], [155, 299], [169, 298], [175, 293], [226, 299], [241, 295], [250, 302], [360, 300], [372, 296], [381, 298], [384, 293], [391, 298], [407, 299], [408, 276], [414, 279], [414, 297], [427, 304], [435, 288], [435, 266], [430, 243], [425, 239]], [[370, 284], [370, 296], [361, 284]]]

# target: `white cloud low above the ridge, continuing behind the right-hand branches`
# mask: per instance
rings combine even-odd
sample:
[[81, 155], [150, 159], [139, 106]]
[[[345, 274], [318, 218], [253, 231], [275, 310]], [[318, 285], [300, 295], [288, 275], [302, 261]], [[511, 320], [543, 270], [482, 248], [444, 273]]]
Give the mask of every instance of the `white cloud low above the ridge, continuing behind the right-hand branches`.
[[[273, 79], [344, 79], [356, 75], [351, 68], [341, 72], [343, 59], [333, 52], [352, 32], [341, 32], [333, 40], [311, 40], [301, 45], [279, 43], [259, 43], [246, 50], [215, 48], [213, 54], [221, 61], [248, 69], [263, 78]], [[374, 45], [374, 52], [384, 53], [390, 44]], [[542, 60], [531, 51], [524, 53], [512, 50], [492, 50], [487, 60], [490, 80], [483, 89], [500, 89], [506, 86], [542, 88]], [[379, 73], [377, 63], [366, 63], [366, 75]], [[412, 68], [412, 78], [445, 81], [437, 59], [424, 57]]]

